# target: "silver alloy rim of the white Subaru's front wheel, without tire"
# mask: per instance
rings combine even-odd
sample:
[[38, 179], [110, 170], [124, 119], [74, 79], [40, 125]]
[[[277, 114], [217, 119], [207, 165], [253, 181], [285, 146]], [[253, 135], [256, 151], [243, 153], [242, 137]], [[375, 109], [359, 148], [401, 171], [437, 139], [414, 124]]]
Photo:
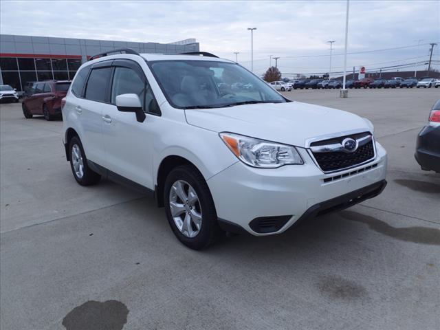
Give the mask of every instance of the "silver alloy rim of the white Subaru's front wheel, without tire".
[[169, 206], [177, 229], [186, 237], [197, 236], [202, 225], [201, 204], [188, 182], [177, 180], [171, 186]]

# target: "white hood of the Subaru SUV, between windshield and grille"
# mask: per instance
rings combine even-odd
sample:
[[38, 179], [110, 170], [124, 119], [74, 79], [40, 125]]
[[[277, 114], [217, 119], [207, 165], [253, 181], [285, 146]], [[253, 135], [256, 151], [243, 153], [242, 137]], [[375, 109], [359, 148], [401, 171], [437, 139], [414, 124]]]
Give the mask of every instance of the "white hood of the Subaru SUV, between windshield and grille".
[[301, 102], [188, 109], [185, 114], [188, 124], [217, 133], [231, 132], [303, 147], [311, 137], [371, 131], [358, 115]]

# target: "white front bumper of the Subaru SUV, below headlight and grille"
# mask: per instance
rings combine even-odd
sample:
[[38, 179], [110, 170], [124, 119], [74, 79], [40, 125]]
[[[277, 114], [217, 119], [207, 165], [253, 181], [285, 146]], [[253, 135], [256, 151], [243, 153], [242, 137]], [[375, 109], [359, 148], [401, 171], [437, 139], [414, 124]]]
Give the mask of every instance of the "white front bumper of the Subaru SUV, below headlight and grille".
[[[377, 142], [372, 162], [338, 173], [322, 173], [305, 149], [298, 148], [298, 152], [303, 165], [252, 168], [236, 162], [208, 179], [220, 225], [256, 236], [279, 234], [304, 217], [349, 207], [378, 195], [384, 187], [386, 151]], [[326, 182], [329, 177], [333, 179]], [[382, 188], [371, 194], [368, 187], [372, 185]]]

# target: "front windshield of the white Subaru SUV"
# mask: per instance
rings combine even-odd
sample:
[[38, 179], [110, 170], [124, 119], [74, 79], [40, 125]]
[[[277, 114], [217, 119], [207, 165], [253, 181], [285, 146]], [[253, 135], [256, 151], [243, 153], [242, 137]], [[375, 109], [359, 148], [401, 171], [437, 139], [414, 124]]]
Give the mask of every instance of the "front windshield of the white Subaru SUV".
[[236, 63], [173, 60], [148, 64], [166, 99], [176, 108], [286, 102], [267, 83]]

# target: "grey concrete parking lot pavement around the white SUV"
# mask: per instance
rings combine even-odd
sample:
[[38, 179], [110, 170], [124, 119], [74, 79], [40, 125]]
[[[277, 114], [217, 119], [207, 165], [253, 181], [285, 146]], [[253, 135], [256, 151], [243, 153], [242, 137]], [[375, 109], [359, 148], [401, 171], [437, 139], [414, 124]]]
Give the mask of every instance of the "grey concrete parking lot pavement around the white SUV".
[[439, 329], [440, 175], [414, 159], [439, 89], [285, 95], [369, 118], [388, 186], [279, 236], [201, 252], [152, 199], [76, 184], [61, 120], [1, 104], [1, 329]]

